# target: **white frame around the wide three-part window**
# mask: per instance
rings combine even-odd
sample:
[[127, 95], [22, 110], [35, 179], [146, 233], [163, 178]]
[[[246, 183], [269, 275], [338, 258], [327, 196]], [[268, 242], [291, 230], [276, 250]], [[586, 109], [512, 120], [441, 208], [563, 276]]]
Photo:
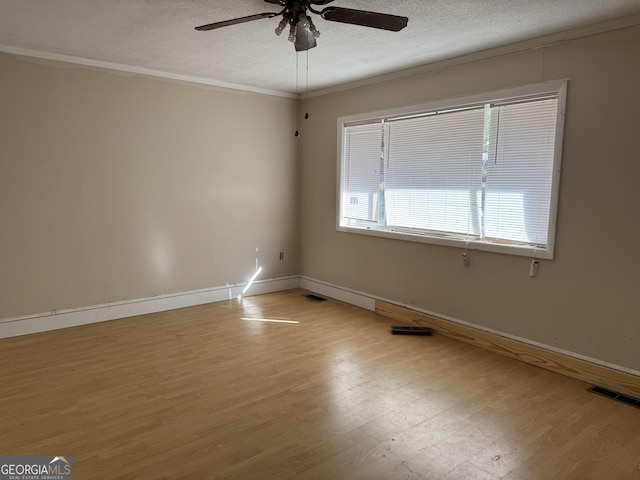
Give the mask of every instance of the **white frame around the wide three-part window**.
[[[520, 255], [542, 259], [553, 259], [555, 250], [556, 222], [558, 213], [558, 197], [560, 187], [560, 172], [562, 164], [562, 148], [564, 137], [564, 123], [566, 111], [567, 80], [554, 80], [543, 83], [524, 85], [516, 88], [497, 90], [481, 93], [477, 95], [456, 97], [444, 100], [437, 100], [428, 103], [410, 105], [375, 112], [366, 112], [356, 115], [339, 117], [337, 121], [337, 214], [336, 230], [339, 232], [355, 233], [361, 235], [371, 235], [412, 242], [429, 243], [450, 247], [463, 248], [466, 250], [481, 250], [495, 253]], [[538, 248], [531, 245], [492, 243], [485, 240], [460, 239], [442, 237], [428, 233], [409, 233], [406, 231], [392, 231], [383, 228], [370, 226], [354, 226], [343, 224], [343, 188], [345, 185], [345, 127], [383, 119], [398, 119], [413, 115], [437, 110], [452, 110], [468, 108], [486, 103], [512, 102], [524, 99], [534, 99], [545, 95], [557, 95], [557, 116], [555, 127], [555, 144], [553, 153], [553, 173], [551, 179], [551, 197], [549, 204], [549, 224], [547, 229], [546, 248]]]

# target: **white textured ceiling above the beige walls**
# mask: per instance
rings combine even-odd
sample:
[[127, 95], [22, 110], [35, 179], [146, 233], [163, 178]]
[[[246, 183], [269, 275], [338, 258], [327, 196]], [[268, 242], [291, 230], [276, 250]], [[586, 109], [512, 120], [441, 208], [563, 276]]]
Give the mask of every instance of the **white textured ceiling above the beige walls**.
[[[0, 0], [0, 51], [291, 94], [333, 87], [602, 21], [640, 0], [335, 0], [409, 18], [394, 33], [314, 18], [318, 46], [296, 54], [262, 0]], [[321, 9], [323, 7], [317, 7]]]

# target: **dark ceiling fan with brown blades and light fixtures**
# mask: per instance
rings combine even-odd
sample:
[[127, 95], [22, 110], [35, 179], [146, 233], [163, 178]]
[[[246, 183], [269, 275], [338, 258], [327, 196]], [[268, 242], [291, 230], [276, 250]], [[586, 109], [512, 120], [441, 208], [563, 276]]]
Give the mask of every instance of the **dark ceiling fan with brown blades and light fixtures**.
[[276, 34], [280, 35], [282, 31], [289, 26], [289, 40], [295, 45], [296, 51], [309, 50], [316, 46], [316, 38], [320, 32], [313, 24], [311, 17], [307, 12], [319, 15], [330, 22], [349, 23], [352, 25], [361, 25], [363, 27], [379, 28], [392, 32], [399, 32], [407, 26], [409, 19], [397, 15], [389, 15], [386, 13], [369, 12], [367, 10], [355, 10], [353, 8], [342, 7], [326, 7], [322, 10], [316, 10], [314, 5], [327, 5], [334, 0], [264, 0], [267, 3], [280, 5], [282, 10], [279, 12], [264, 12], [246, 17], [234, 18], [232, 20], [224, 20], [222, 22], [209, 23], [196, 27], [198, 31], [214, 30], [216, 28], [236, 25], [238, 23], [251, 22], [260, 20], [261, 18], [273, 18], [282, 15], [282, 20], [276, 27]]

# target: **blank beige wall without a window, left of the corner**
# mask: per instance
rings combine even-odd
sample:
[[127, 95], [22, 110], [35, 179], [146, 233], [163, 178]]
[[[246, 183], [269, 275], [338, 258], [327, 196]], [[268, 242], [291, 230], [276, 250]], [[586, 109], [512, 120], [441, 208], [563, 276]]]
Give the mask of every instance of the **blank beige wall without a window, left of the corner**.
[[297, 274], [295, 107], [0, 54], [0, 319]]

